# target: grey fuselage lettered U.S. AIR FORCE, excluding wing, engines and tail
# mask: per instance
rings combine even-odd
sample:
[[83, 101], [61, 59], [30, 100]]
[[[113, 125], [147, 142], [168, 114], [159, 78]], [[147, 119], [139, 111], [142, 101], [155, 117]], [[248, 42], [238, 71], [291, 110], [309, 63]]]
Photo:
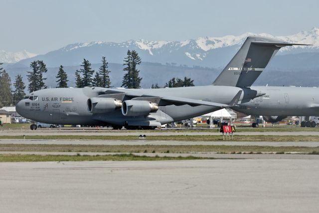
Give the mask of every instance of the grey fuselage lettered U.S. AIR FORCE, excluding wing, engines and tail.
[[[228, 86], [198, 86], [164, 89], [123, 89], [124, 92], [158, 97], [180, 97], [229, 104], [242, 90]], [[130, 120], [157, 120], [161, 124], [199, 116], [220, 109], [215, 106], [165, 105], [148, 116], [131, 117], [122, 114], [121, 109], [108, 113], [89, 112], [87, 101], [98, 97], [105, 88], [54, 88], [35, 91], [21, 100], [16, 110], [23, 117], [52, 124], [116, 124], [124, 125]]]

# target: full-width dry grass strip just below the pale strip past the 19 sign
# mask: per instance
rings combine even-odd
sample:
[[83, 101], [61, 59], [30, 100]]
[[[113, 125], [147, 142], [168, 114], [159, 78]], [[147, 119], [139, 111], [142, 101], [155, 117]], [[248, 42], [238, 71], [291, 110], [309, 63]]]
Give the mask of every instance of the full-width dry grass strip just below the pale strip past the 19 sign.
[[240, 146], [236, 145], [81, 145], [81, 144], [0, 144], [0, 151], [28, 152], [118, 152], [118, 153], [192, 153], [192, 152], [303, 152], [319, 153], [319, 147]]

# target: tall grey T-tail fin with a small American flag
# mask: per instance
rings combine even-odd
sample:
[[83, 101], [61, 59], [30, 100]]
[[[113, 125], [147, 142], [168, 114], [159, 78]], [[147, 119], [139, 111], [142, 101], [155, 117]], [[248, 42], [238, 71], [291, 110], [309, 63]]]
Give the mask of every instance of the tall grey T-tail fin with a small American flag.
[[263, 72], [278, 50], [293, 44], [279, 39], [249, 36], [246, 41], [216, 78], [213, 85], [250, 87]]

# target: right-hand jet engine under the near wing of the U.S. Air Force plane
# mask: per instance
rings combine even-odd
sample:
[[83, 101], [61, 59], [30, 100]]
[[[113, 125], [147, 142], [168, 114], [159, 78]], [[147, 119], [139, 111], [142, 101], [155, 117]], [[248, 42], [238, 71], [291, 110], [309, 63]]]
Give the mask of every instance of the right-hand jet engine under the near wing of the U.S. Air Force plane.
[[122, 105], [122, 113], [125, 116], [148, 115], [158, 109], [159, 106], [149, 101], [127, 100]]

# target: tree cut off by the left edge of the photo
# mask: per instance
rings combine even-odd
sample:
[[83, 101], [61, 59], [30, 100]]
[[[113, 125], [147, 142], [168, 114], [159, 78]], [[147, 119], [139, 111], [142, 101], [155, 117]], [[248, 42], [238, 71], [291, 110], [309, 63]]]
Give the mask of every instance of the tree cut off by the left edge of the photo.
[[3, 70], [0, 75], [0, 107], [9, 106], [11, 102], [11, 79]]

